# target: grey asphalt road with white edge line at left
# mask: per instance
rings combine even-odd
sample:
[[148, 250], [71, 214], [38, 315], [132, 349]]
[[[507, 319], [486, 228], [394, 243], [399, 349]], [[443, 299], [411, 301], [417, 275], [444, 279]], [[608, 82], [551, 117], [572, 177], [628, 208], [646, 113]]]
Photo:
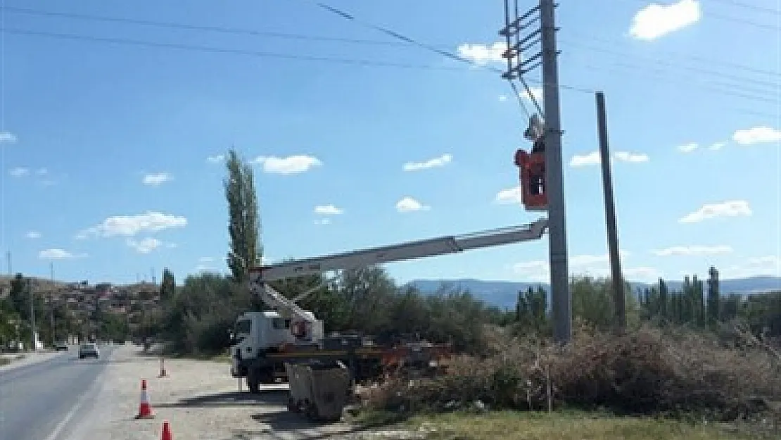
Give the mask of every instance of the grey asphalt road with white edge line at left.
[[94, 403], [112, 352], [101, 346], [100, 360], [78, 358], [78, 347], [41, 363], [0, 373], [0, 438], [67, 438]]

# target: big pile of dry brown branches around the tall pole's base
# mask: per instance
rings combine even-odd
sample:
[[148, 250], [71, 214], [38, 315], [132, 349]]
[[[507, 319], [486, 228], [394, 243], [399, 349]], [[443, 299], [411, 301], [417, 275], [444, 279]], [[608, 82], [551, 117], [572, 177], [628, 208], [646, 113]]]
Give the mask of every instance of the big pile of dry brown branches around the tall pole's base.
[[432, 379], [391, 379], [367, 392], [366, 402], [396, 411], [566, 406], [734, 420], [765, 410], [781, 393], [773, 352], [729, 348], [712, 334], [642, 327], [618, 336], [579, 324], [564, 348], [501, 330], [491, 336], [489, 355], [456, 357], [447, 374]]

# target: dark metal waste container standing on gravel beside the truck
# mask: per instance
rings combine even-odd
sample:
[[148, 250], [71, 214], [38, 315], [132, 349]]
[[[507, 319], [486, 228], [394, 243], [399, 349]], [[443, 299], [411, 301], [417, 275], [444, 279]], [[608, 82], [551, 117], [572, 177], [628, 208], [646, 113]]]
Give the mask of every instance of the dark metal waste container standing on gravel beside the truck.
[[350, 393], [350, 373], [339, 361], [285, 363], [290, 384], [287, 409], [310, 420], [341, 419]]

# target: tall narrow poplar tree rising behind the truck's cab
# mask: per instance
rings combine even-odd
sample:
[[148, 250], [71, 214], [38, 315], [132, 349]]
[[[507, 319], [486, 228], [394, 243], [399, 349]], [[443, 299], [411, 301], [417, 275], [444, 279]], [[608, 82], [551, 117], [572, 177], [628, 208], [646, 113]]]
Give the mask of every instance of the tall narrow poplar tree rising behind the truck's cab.
[[228, 202], [230, 252], [228, 267], [237, 282], [247, 279], [248, 269], [257, 266], [262, 257], [260, 218], [255, 177], [251, 166], [231, 148], [226, 160], [227, 177], [223, 181]]

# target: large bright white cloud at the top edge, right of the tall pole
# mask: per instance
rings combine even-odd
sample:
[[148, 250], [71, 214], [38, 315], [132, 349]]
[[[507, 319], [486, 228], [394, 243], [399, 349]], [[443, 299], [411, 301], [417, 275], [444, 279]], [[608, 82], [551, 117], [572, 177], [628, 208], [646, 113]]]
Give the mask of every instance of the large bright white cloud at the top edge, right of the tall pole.
[[651, 3], [635, 14], [629, 34], [638, 40], [653, 41], [697, 23], [701, 15], [697, 0], [679, 0], [671, 5]]

